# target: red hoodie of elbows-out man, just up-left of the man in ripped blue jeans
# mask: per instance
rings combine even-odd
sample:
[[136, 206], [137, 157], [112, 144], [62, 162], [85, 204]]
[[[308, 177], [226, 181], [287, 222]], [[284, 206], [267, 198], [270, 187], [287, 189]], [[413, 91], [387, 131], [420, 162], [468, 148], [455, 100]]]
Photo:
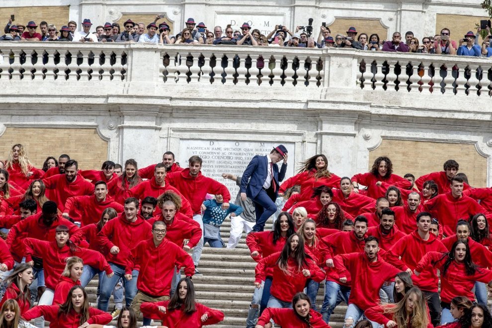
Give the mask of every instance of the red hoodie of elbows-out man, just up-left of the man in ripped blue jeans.
[[81, 227], [91, 223], [97, 223], [102, 217], [102, 212], [108, 207], [116, 210], [116, 213], [124, 211], [123, 205], [117, 203], [110, 196], [106, 196], [98, 202], [95, 195], [70, 197], [65, 203], [65, 211], [70, 217], [81, 223]]

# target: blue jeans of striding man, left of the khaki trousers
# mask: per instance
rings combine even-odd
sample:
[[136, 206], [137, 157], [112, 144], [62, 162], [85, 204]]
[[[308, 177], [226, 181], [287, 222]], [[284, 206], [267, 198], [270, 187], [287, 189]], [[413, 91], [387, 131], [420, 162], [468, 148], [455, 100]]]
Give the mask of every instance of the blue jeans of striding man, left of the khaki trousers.
[[111, 278], [108, 278], [106, 275], [102, 277], [101, 284], [101, 294], [99, 295], [99, 302], [97, 302], [97, 308], [102, 311], [108, 311], [108, 303], [109, 298], [111, 297], [111, 293], [113, 292], [114, 286], [118, 283], [120, 278], [123, 278], [123, 284], [125, 286], [125, 302], [126, 306], [130, 306], [132, 304], [133, 298], [137, 294], [137, 278], [138, 271], [132, 271], [132, 279], [126, 280], [125, 276], [125, 267], [122, 265], [114, 264], [109, 262], [111, 269], [114, 272], [114, 275]]

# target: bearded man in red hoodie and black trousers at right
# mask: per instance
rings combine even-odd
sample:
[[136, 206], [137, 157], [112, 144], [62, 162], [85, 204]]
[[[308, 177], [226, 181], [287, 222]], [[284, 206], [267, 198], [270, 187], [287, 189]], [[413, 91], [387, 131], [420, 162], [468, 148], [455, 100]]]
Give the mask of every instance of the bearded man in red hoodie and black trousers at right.
[[420, 212], [417, 215], [417, 230], [400, 239], [387, 253], [388, 262], [412, 276], [413, 284], [425, 294], [429, 306], [432, 324], [437, 327], [441, 322], [441, 303], [437, 293], [437, 269], [428, 268], [419, 276], [413, 274], [418, 261], [429, 251], [446, 252], [446, 247], [429, 232], [432, 214]]

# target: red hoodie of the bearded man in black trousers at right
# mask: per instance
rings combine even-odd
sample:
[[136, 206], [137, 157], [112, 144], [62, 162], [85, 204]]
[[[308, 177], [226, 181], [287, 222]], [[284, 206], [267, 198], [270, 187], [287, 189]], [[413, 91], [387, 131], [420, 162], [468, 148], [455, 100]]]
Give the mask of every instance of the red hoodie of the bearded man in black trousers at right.
[[[429, 239], [424, 241], [418, 232], [414, 231], [393, 245], [386, 259], [402, 271], [409, 268], [413, 271], [418, 261], [429, 251], [445, 252], [447, 249], [433, 234], [429, 234]], [[427, 268], [420, 272], [419, 276], [412, 274], [411, 279], [421, 290], [437, 292], [438, 278], [435, 268]]]

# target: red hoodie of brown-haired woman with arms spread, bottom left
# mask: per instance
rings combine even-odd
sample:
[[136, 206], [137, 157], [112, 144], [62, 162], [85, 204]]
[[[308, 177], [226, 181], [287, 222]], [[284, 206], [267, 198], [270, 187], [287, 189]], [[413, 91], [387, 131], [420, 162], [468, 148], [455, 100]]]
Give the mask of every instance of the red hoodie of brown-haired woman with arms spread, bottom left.
[[[60, 309], [59, 305], [38, 305], [24, 313], [22, 317], [31, 321], [44, 316], [44, 319], [50, 322], [50, 328], [78, 328], [81, 326], [81, 315], [75, 310], [72, 309], [68, 315], [59, 315], [58, 309]], [[89, 325], [106, 325], [111, 320], [113, 317], [109, 313], [89, 307], [89, 319], [87, 319]]]

